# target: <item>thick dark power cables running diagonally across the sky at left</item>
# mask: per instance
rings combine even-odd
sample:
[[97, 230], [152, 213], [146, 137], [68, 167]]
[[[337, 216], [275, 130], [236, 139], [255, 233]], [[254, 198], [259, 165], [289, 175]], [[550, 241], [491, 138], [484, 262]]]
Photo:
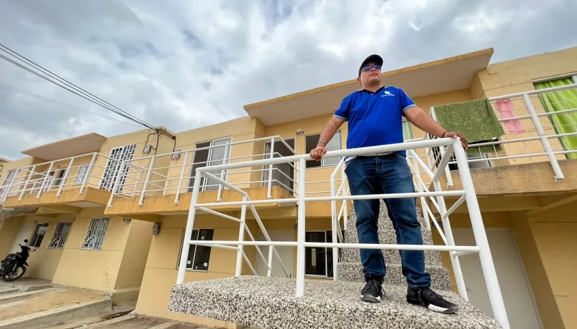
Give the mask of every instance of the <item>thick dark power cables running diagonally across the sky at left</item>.
[[[28, 60], [27, 58], [25, 58], [24, 56], [21, 56], [19, 53], [16, 53], [16, 51], [12, 51], [12, 49], [9, 49], [8, 47], [5, 47], [4, 45], [0, 44], [0, 47], [3, 49], [0, 49], [2, 51], [4, 51], [5, 53], [8, 53], [9, 55], [11, 55], [14, 58], [17, 58], [23, 62], [27, 62], [29, 63], [29, 65], [34, 66], [36, 69], [41, 70], [42, 73], [45, 73], [47, 75], [49, 75], [50, 77], [46, 77], [45, 75], [41, 75], [35, 71], [32, 71], [31, 69], [23, 66], [22, 64], [19, 64], [17, 62], [15, 62], [14, 60], [11, 60], [10, 58], [7, 58], [3, 55], [0, 54], [0, 58], [3, 58], [4, 60], [8, 60], [8, 62], [11, 62], [12, 64], [15, 64], [16, 66], [21, 67], [22, 69], [25, 69], [26, 71], [29, 71], [30, 73], [33, 73], [34, 75], [38, 75], [38, 77], [43, 78], [44, 80], [47, 80], [48, 82], [51, 82], [52, 84], [56, 84], [56, 86], [60, 86], [61, 88], [64, 88], [68, 91], [70, 91], [71, 93], [74, 93], [84, 99], [87, 99], [95, 104], [98, 104], [99, 106], [102, 106], [103, 108], [106, 108], [106, 110], [110, 110], [111, 112], [114, 112], [115, 114], [121, 115], [122, 117], [129, 119], [131, 121], [134, 121], [135, 123], [139, 123], [140, 125], [143, 125], [144, 127], [147, 127], [151, 130], [155, 130], [159, 133], [165, 134], [166, 136], [170, 136], [171, 138], [174, 138], [174, 136], [172, 136], [171, 134], [168, 134], [167, 132], [161, 131], [159, 129], [157, 129], [156, 127], [154, 127], [153, 125], [150, 125], [149, 123], [146, 123], [146, 121], [143, 121], [141, 119], [138, 119], [137, 117], [133, 116], [132, 114], [125, 112], [124, 110], [121, 110], [120, 108], [117, 108], [116, 106], [113, 106], [111, 103], [108, 103], [106, 101], [104, 101], [103, 99], [100, 99], [99, 97], [96, 97], [95, 95], [89, 93], [87, 90], [84, 90], [78, 86], [76, 86], [75, 84], [72, 84], [71, 82], [68, 82], [67, 80], [65, 80], [62, 77], [59, 77], [58, 75], [52, 73], [51, 71], [43, 68], [43, 66], [40, 66], [38, 64], [36, 64], [35, 62], [32, 62], [32, 60]], [[62, 84], [59, 84], [58, 82], [55, 82], [54, 80], [51, 79], [51, 77], [54, 77], [58, 80], [58, 82], [62, 82], [63, 84], [66, 84], [67, 86], [63, 86]], [[69, 87], [69, 88], [68, 88]], [[73, 88], [73, 90], [71, 89]], [[81, 93], [83, 95], [81, 95]]]

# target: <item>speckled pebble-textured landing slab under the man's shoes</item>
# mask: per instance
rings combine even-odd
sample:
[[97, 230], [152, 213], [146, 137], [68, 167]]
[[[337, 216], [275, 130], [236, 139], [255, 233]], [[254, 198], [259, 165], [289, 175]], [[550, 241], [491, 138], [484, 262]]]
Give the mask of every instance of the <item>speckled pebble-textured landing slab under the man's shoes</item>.
[[451, 291], [438, 291], [455, 302], [454, 315], [433, 313], [406, 302], [406, 287], [386, 286], [383, 302], [361, 302], [363, 284], [306, 280], [304, 297], [295, 297], [295, 280], [242, 276], [177, 284], [168, 310], [261, 329], [494, 329], [494, 319]]

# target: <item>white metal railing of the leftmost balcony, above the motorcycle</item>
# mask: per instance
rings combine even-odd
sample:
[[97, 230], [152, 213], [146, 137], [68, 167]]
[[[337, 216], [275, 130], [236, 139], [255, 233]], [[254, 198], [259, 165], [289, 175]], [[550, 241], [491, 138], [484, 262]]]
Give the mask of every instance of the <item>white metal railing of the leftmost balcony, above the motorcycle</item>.
[[[104, 166], [100, 165], [100, 162], [105, 162]], [[4, 204], [8, 197], [18, 197], [22, 200], [26, 194], [33, 193], [37, 199], [43, 193], [54, 191], [56, 196], [60, 197], [67, 188], [80, 187], [79, 194], [84, 193], [86, 186], [110, 191], [111, 188], [106, 188], [109, 180], [114, 177], [118, 180], [126, 179], [126, 175], [122, 173], [124, 165], [121, 160], [94, 152], [19, 167], [14, 169], [15, 173], [10, 180], [0, 182], [0, 204]], [[140, 168], [132, 164], [126, 165], [134, 169]], [[120, 170], [115, 169], [118, 167]], [[122, 188], [130, 187], [122, 186]]]

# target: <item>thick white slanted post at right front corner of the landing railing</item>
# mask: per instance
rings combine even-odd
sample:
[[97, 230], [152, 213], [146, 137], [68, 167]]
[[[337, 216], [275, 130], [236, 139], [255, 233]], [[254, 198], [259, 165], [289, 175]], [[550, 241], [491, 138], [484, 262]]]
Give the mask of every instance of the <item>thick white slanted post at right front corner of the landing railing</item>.
[[[493, 315], [504, 329], [509, 329], [509, 320], [505, 309], [505, 303], [503, 302], [503, 296], [501, 295], [501, 289], [499, 288], [499, 280], [497, 279], [495, 264], [493, 263], [493, 257], [491, 256], [489, 242], [487, 241], [487, 234], [481, 217], [481, 210], [479, 209], [479, 203], [477, 202], [475, 186], [473, 185], [473, 179], [471, 178], [471, 171], [469, 171], [467, 166], [465, 151], [461, 145], [461, 141], [455, 140], [455, 142], [453, 142], [453, 148], [455, 149], [455, 158], [457, 159], [457, 166], [459, 167], [461, 184], [465, 191], [468, 213], [471, 217], [471, 227], [473, 228], [473, 234], [475, 235], [477, 246], [480, 248], [479, 259], [481, 260], [481, 267], [483, 270], [483, 276], [485, 277]], [[451, 239], [452, 237], [453, 236], [451, 236]], [[449, 236], [447, 236], [447, 239], [449, 239]]]

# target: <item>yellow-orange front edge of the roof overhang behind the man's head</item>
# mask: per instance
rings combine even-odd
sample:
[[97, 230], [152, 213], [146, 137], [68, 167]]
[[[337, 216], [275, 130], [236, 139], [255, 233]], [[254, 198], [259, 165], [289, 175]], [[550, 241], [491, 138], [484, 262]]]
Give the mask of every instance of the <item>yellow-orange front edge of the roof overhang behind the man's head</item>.
[[[446, 64], [448, 62], [455, 62], [457, 60], [464, 60], [466, 58], [472, 58], [472, 57], [483, 56], [483, 55], [493, 55], [494, 51], [495, 51], [495, 49], [493, 49], [493, 47], [490, 47], [490, 48], [486, 48], [486, 49], [482, 49], [482, 50], [478, 50], [478, 51], [473, 51], [471, 53], [463, 53], [461, 55], [443, 58], [441, 60], [433, 60], [431, 62], [426, 62], [426, 63], [417, 64], [417, 65], [413, 65], [413, 66], [407, 66], [407, 67], [403, 67], [401, 69], [383, 72], [383, 77], [386, 77], [389, 75], [395, 75], [395, 74], [403, 73], [403, 72], [416, 71], [418, 69], [425, 69], [429, 66]], [[488, 64], [488, 61], [487, 61], [487, 64]], [[267, 99], [266, 101], [258, 101], [256, 103], [250, 103], [250, 104], [243, 106], [243, 108], [245, 110], [248, 110], [249, 108], [256, 108], [258, 106], [266, 105], [269, 103], [275, 103], [277, 101], [284, 101], [286, 99], [293, 99], [293, 98], [296, 98], [299, 96], [318, 93], [319, 91], [322, 91], [322, 90], [328, 90], [328, 89], [337, 88], [340, 86], [346, 86], [348, 84], [357, 84], [357, 79], [346, 80], [343, 82], [337, 82], [336, 84], [329, 84], [327, 86], [321, 86], [321, 87], [317, 87], [317, 88], [313, 88], [313, 89], [309, 89], [309, 90], [304, 90], [304, 91], [300, 91], [298, 93], [293, 93], [293, 94], [285, 95], [282, 97]]]

